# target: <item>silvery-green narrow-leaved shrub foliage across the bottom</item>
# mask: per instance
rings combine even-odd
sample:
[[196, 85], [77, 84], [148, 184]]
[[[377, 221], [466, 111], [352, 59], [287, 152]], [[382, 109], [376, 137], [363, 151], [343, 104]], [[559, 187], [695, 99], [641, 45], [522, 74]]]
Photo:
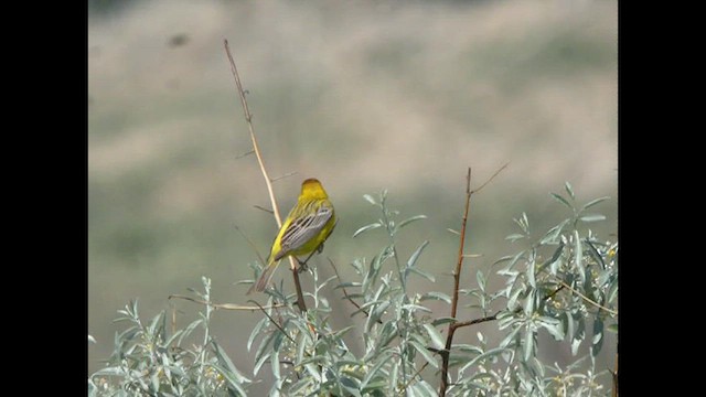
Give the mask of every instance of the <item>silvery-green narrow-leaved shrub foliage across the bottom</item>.
[[[605, 221], [593, 208], [608, 197], [579, 205], [566, 183], [564, 192], [552, 197], [568, 210], [568, 217], [535, 237], [528, 217], [521, 214], [514, 219], [517, 233], [507, 239], [521, 243], [522, 250], [478, 270], [472, 288], [428, 292], [407, 288], [414, 277], [435, 281], [420, 266], [428, 242], [408, 256], [397, 249], [399, 230], [425, 216], [398, 221], [386, 192], [364, 197], [379, 218], [353, 237], [382, 229], [379, 251], [370, 260], [351, 261], [354, 280], [320, 280], [311, 267], [314, 288], [304, 293], [304, 312], [281, 285], [268, 289], [261, 320], [246, 344], [256, 352], [253, 374], [238, 371], [210, 333], [213, 308], [204, 277], [203, 291], [193, 293], [205, 304], [183, 330], [170, 333], [165, 312], [142, 321], [137, 302], [119, 311], [118, 321], [128, 328], [116, 334], [107, 366], [89, 376], [89, 395], [240, 396], [263, 371], [271, 371], [271, 396], [438, 396], [441, 374], [448, 377], [448, 396], [617, 395], [617, 374], [597, 367], [596, 357], [605, 333], [618, 332], [618, 244], [589, 228]], [[489, 289], [490, 278], [502, 287]], [[355, 305], [353, 315], [364, 321], [334, 329], [329, 322], [333, 308], [322, 293], [327, 289], [344, 298], [335, 304]], [[453, 319], [426, 307], [430, 300], [452, 304], [453, 299], [482, 315]], [[478, 343], [449, 341], [451, 326], [479, 323], [492, 324], [493, 335], [501, 335], [493, 337], [498, 342], [478, 331]], [[344, 342], [351, 332], [362, 337], [359, 354]], [[557, 346], [539, 345], [542, 333], [565, 344], [575, 362], [543, 362], [541, 350]], [[201, 343], [186, 346], [188, 336]]]

